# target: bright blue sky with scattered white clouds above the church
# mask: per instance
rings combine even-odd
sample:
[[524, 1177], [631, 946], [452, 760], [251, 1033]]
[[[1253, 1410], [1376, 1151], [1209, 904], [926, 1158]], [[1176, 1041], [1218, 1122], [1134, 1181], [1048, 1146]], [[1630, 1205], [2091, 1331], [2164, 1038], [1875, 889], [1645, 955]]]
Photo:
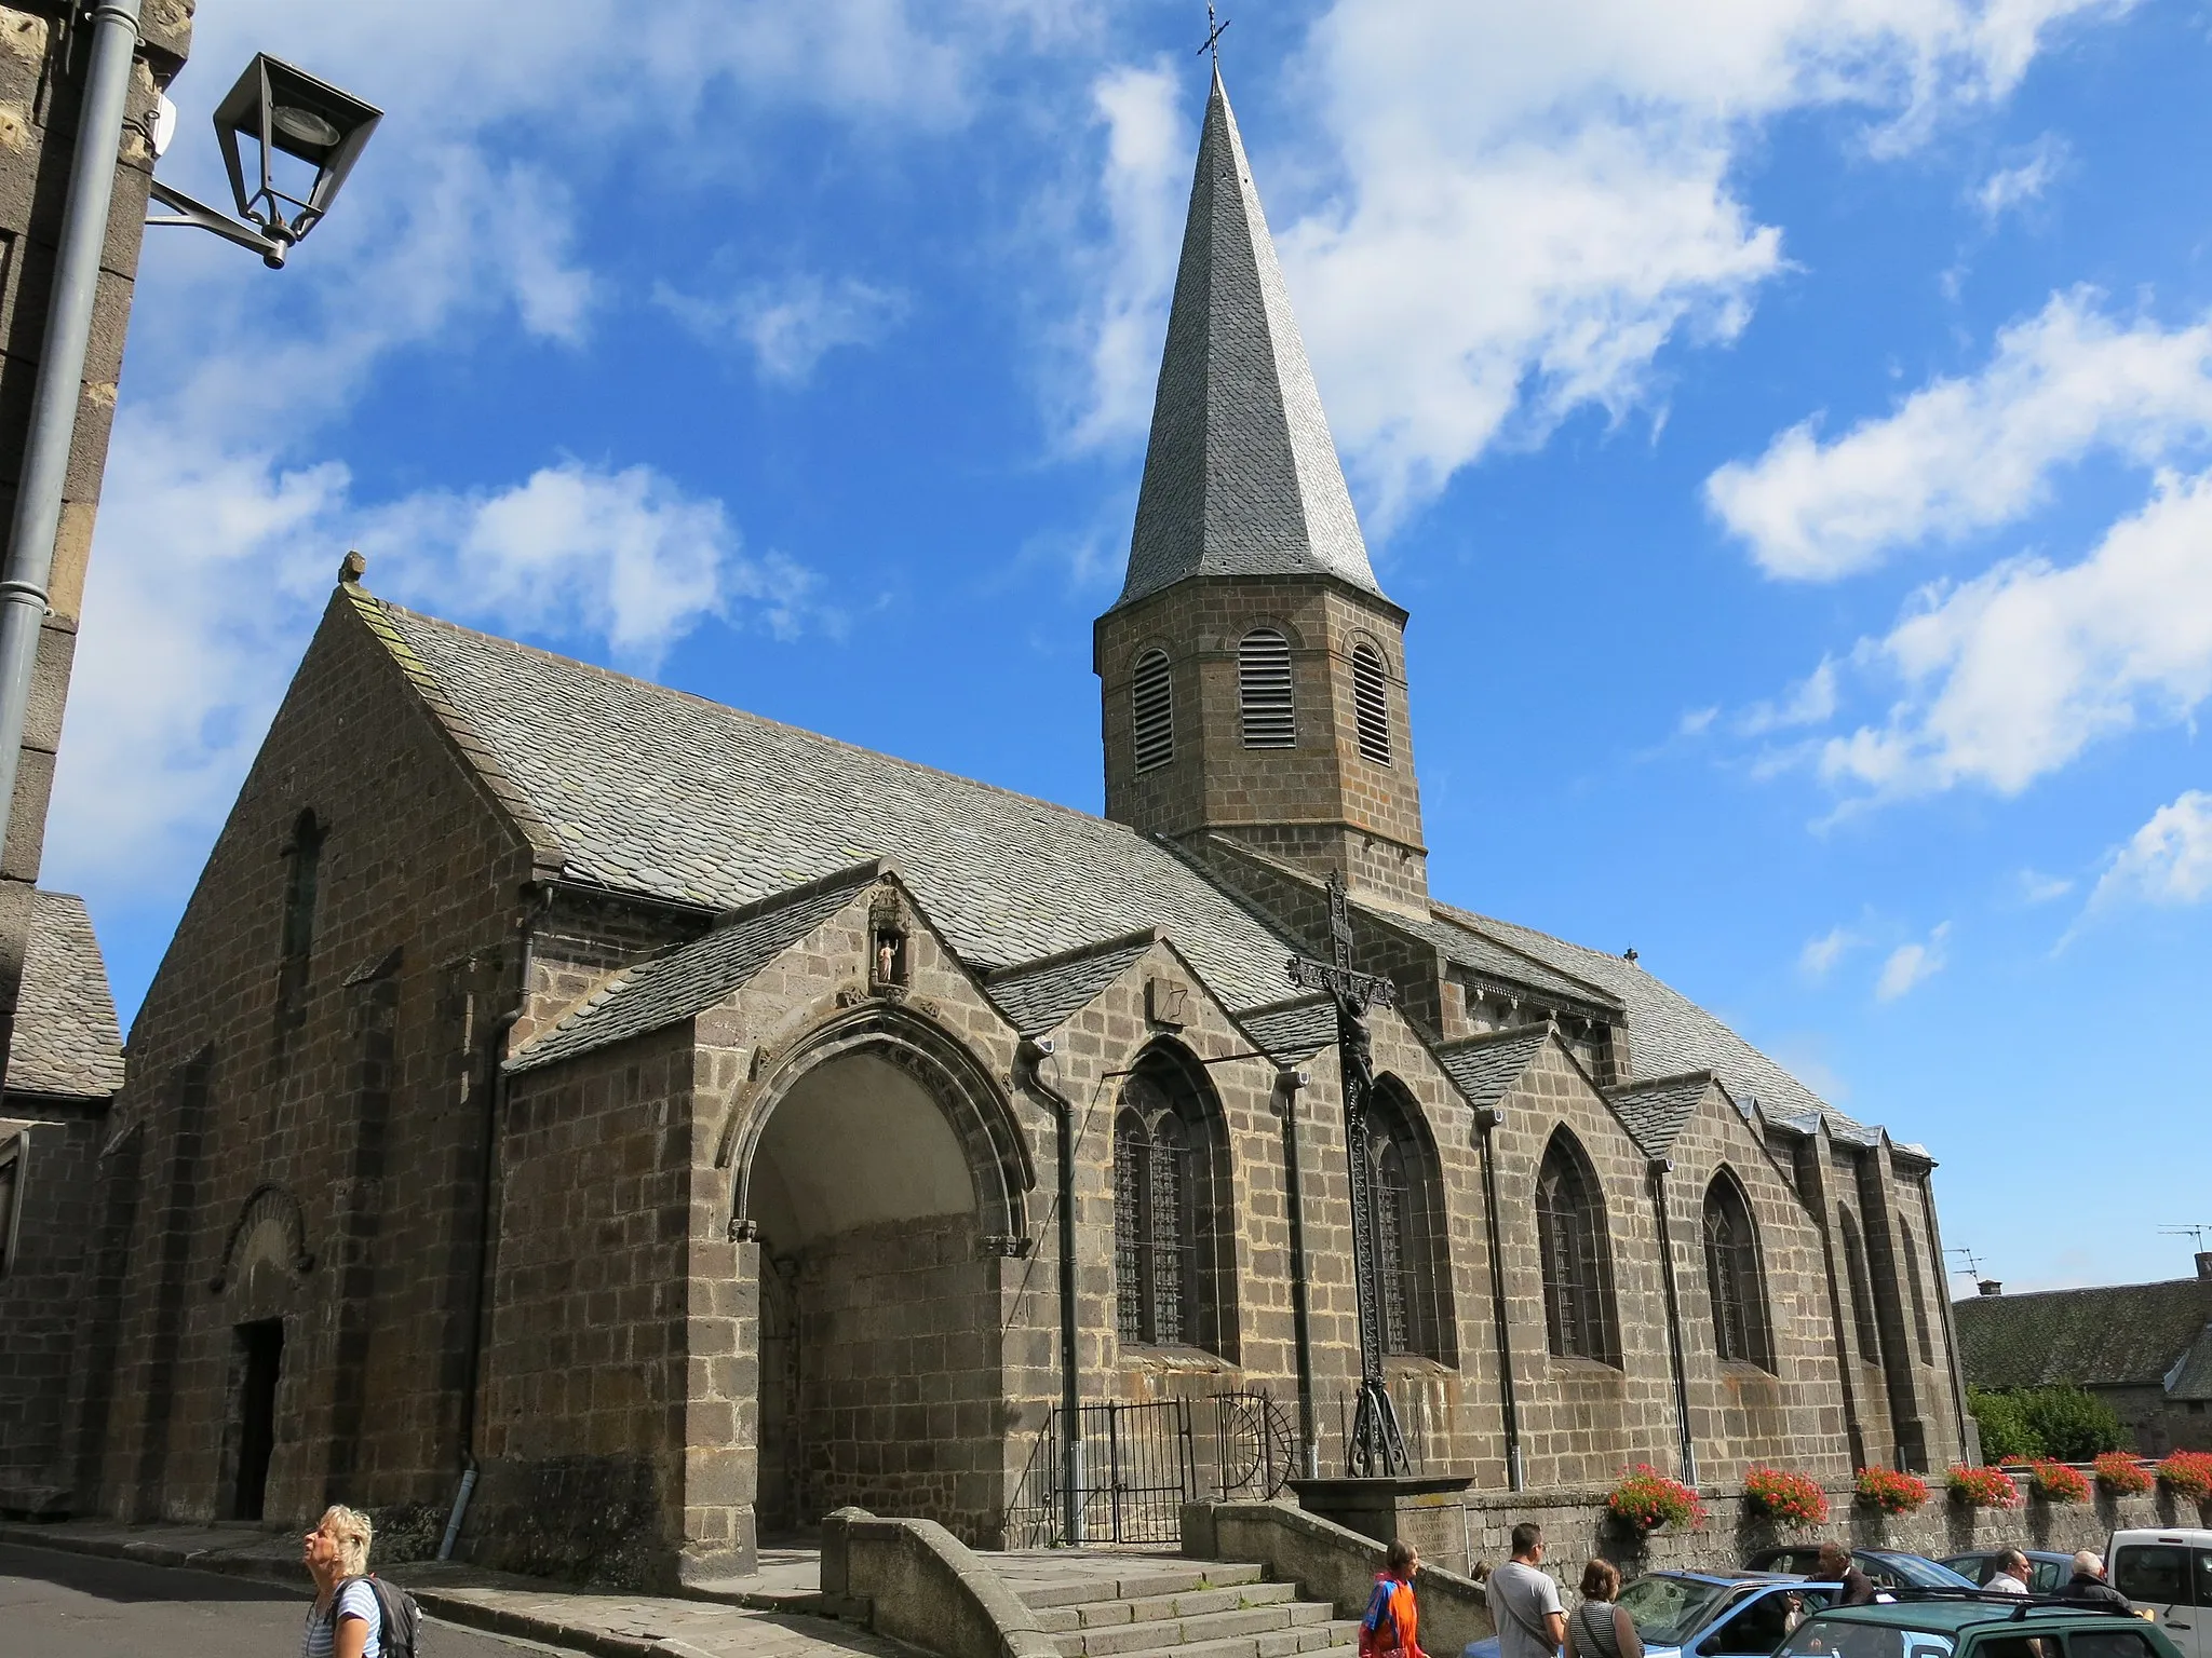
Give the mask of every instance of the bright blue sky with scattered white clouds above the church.
[[[2011, 1287], [2212, 1222], [2212, 11], [1228, 7], [1407, 639], [1431, 884], [1940, 1158]], [[347, 546], [383, 595], [1095, 809], [1190, 0], [208, 0], [389, 115], [150, 232], [46, 882], [128, 1021]], [[1953, 1280], [1962, 1282], [1962, 1280]]]

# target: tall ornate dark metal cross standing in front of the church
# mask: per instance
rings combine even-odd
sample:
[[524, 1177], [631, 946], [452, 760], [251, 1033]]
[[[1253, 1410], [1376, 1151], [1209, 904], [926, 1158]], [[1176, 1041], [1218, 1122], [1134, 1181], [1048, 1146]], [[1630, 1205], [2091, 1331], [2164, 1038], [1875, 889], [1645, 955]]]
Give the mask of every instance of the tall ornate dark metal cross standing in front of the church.
[[1345, 878], [1329, 873], [1329, 959], [1290, 957], [1290, 982], [1325, 990], [1336, 1004], [1336, 1057], [1345, 1079], [1345, 1161], [1352, 1169], [1352, 1289], [1360, 1313], [1360, 1404], [1345, 1446], [1354, 1479], [1409, 1475], [1405, 1435], [1383, 1377], [1383, 1249], [1376, 1238], [1376, 1180], [1367, 1147], [1367, 1105], [1374, 1099], [1374, 1046], [1367, 1010], [1394, 1006], [1398, 986], [1374, 973], [1352, 970], [1352, 902]]

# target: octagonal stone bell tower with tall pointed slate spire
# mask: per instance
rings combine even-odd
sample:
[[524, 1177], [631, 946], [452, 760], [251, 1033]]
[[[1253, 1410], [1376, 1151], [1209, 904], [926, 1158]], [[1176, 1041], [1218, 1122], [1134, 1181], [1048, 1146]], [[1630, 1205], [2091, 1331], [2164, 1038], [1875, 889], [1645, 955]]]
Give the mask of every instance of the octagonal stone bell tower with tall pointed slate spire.
[[1405, 621], [1367, 564], [1217, 69], [1128, 581], [1093, 628], [1106, 816], [1425, 906]]

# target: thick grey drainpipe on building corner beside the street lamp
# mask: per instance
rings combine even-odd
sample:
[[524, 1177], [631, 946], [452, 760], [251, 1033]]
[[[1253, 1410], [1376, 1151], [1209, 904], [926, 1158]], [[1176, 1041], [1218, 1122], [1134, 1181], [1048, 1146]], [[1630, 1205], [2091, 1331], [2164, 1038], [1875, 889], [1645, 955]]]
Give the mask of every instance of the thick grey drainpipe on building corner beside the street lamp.
[[91, 13], [93, 49], [84, 69], [77, 150], [69, 161], [69, 206], [62, 210], [60, 250], [53, 256], [53, 298], [46, 305], [46, 340], [31, 393], [31, 431], [22, 451], [15, 520], [9, 524], [7, 568], [0, 570], [0, 825], [13, 820], [22, 725], [31, 707], [31, 679], [38, 674], [38, 630], [46, 619], [53, 537], [62, 528], [84, 351], [93, 336], [108, 206], [115, 201], [137, 18], [139, 0], [102, 0]]

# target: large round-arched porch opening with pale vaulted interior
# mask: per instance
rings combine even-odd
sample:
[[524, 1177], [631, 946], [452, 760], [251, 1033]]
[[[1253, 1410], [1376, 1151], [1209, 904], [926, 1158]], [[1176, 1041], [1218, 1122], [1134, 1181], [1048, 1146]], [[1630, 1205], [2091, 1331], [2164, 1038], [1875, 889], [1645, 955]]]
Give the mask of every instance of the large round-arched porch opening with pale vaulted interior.
[[998, 1521], [1013, 1216], [995, 1161], [978, 1169], [975, 1105], [878, 1039], [838, 1043], [757, 1119], [741, 1203], [759, 1238], [761, 1536], [847, 1503], [967, 1541]]

